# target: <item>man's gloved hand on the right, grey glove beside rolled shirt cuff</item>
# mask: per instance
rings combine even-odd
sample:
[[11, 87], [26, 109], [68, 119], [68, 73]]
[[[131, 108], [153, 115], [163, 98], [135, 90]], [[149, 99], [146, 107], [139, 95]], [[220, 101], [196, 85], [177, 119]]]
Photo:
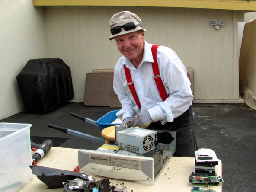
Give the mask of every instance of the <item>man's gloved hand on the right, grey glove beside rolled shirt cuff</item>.
[[140, 127], [140, 128], [147, 128], [148, 125], [152, 123], [152, 119], [149, 115], [148, 110], [144, 110], [137, 115], [134, 116], [134, 118], [131, 119], [131, 125], [133, 127]]

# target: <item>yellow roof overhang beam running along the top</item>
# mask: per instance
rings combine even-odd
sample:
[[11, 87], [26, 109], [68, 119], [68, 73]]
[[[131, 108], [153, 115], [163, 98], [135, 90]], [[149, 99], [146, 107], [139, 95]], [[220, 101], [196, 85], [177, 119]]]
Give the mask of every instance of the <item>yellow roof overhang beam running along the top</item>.
[[33, 0], [34, 6], [151, 6], [256, 11], [256, 0]]

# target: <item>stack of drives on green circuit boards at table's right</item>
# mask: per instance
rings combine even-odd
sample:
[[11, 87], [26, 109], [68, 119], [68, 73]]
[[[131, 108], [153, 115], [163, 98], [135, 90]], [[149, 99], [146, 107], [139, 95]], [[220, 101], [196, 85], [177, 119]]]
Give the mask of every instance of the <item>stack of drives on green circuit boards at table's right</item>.
[[190, 174], [189, 182], [215, 185], [223, 182], [215, 172], [215, 165], [218, 165], [218, 159], [213, 150], [198, 149], [195, 151], [195, 172]]

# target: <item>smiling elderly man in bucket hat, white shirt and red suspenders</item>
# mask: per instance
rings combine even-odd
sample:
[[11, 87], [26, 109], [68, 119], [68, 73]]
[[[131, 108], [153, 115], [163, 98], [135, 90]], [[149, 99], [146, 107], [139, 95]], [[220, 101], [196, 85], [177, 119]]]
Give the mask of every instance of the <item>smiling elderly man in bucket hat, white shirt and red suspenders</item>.
[[167, 47], [145, 41], [146, 29], [134, 13], [122, 11], [109, 20], [122, 57], [114, 70], [113, 87], [122, 104], [119, 129], [141, 127], [176, 131], [174, 155], [194, 157], [197, 150], [193, 95], [182, 61]]

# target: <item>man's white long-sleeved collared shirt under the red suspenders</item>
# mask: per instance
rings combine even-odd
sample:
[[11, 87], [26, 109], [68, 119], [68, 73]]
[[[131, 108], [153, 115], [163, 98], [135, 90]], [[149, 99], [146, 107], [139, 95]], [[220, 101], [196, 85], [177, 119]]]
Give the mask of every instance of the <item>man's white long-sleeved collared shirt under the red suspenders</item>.
[[140, 112], [131, 91], [127, 85], [124, 66], [130, 69], [131, 78], [141, 103], [141, 111], [148, 109], [153, 122], [161, 120], [162, 124], [173, 122], [192, 105], [193, 95], [186, 67], [176, 53], [164, 46], [157, 49], [157, 62], [160, 76], [168, 98], [162, 101], [157, 85], [153, 78], [151, 52], [152, 44], [144, 43], [144, 54], [141, 64], [136, 69], [131, 61], [122, 56], [114, 70], [113, 87], [122, 104], [122, 109], [116, 114], [118, 118], [134, 117]]

